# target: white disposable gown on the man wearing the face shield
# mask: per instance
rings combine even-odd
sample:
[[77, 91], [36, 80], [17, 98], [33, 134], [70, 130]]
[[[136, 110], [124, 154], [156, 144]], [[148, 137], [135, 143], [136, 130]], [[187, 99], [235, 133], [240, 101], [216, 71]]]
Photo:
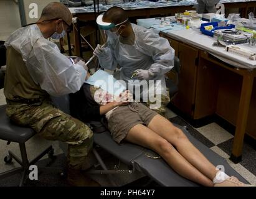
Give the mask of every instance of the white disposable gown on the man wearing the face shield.
[[[135, 70], [149, 70], [154, 74], [149, 80], [161, 80], [161, 93], [166, 95], [164, 74], [174, 67], [174, 49], [167, 39], [159, 37], [153, 30], [131, 25], [135, 33], [134, 44], [123, 44], [118, 37], [108, 37], [107, 47], [98, 57], [100, 65], [108, 70], [115, 70], [120, 65], [120, 79], [134, 86], [139, 85], [130, 82]], [[136, 80], [136, 76], [132, 80]]]

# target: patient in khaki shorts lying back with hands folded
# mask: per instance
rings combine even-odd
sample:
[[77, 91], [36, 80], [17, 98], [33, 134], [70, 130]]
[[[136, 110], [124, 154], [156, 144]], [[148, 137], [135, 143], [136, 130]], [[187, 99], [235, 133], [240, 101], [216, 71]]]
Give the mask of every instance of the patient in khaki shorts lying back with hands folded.
[[128, 91], [112, 96], [85, 83], [80, 91], [70, 95], [70, 109], [72, 116], [83, 122], [106, 116], [111, 136], [116, 142], [127, 141], [154, 150], [179, 175], [189, 180], [209, 187], [246, 186], [237, 178], [216, 170], [183, 131], [168, 119], [129, 99]]

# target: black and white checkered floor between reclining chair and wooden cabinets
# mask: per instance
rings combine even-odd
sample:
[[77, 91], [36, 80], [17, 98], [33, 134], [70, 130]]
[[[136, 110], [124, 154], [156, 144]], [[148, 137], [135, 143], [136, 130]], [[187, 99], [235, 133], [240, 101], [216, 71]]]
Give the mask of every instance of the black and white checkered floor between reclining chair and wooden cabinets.
[[[171, 118], [171, 122], [181, 126], [187, 126], [192, 136], [212, 149], [214, 152], [224, 157], [227, 162], [233, 167], [242, 177], [244, 177], [252, 185], [256, 185], [256, 146], [248, 144], [245, 140], [242, 161], [239, 164], [234, 164], [229, 160], [234, 136], [220, 127], [216, 123], [207, 124], [199, 128], [194, 128], [189, 125], [184, 119], [179, 116]], [[254, 142], [255, 143], [255, 142]]]

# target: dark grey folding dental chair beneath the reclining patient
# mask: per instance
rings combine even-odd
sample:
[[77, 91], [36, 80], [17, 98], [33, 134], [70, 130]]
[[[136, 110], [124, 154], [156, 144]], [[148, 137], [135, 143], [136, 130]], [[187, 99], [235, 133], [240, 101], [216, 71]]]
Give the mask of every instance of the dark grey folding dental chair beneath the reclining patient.
[[[69, 114], [69, 96], [63, 96], [60, 98], [52, 98], [55, 106], [57, 108], [62, 109], [65, 113]], [[112, 185], [115, 184], [115, 178], [113, 175], [115, 174], [133, 174], [135, 170], [139, 172], [143, 172], [145, 175], [148, 175], [152, 180], [157, 182], [161, 186], [166, 187], [198, 187], [197, 183], [191, 182], [186, 178], [181, 177], [179, 174], [174, 172], [171, 167], [161, 158], [156, 158], [159, 155], [155, 154], [152, 150], [145, 149], [143, 147], [137, 146], [131, 143], [125, 143], [122, 145], [117, 144], [111, 137], [108, 129], [105, 129], [104, 123], [93, 122], [88, 124], [92, 127], [94, 132], [94, 142], [95, 147], [93, 148], [93, 155], [98, 161], [98, 164], [102, 167], [101, 170], [90, 169], [88, 170], [88, 174], [102, 174], [108, 175], [111, 180]], [[174, 124], [175, 125], [175, 124]], [[178, 126], [178, 125], [176, 125]], [[234, 175], [239, 178], [241, 182], [248, 183], [241, 175], [239, 175], [229, 164], [227, 164], [226, 160], [223, 157], [220, 157], [218, 154], [213, 152], [211, 149], [206, 147], [201, 142], [197, 141], [194, 137], [189, 134], [187, 131], [187, 127], [178, 126], [189, 140], [194, 144], [194, 146], [199, 149], [202, 154], [204, 154], [207, 159], [209, 159], [214, 165], [221, 165], [222, 168], [225, 169], [225, 173], [227, 175]], [[100, 129], [100, 130], [99, 130]], [[97, 132], [97, 133], [96, 133]], [[67, 147], [63, 147], [63, 143], [61, 143], [62, 149], [67, 150]], [[121, 162], [129, 166], [128, 170], [118, 170], [118, 169], [108, 169], [105, 165], [102, 157], [97, 152], [97, 147], [100, 147], [104, 150], [107, 150], [108, 153], [115, 156]], [[111, 175], [110, 175], [111, 174]]]

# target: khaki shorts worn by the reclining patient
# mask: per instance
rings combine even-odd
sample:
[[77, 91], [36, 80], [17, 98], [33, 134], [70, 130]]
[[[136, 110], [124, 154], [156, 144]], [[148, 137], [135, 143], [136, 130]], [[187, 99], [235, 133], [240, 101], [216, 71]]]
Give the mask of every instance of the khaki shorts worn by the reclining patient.
[[120, 144], [132, 127], [138, 124], [148, 126], [158, 113], [141, 103], [130, 103], [113, 111], [108, 120], [108, 129], [113, 139]]

